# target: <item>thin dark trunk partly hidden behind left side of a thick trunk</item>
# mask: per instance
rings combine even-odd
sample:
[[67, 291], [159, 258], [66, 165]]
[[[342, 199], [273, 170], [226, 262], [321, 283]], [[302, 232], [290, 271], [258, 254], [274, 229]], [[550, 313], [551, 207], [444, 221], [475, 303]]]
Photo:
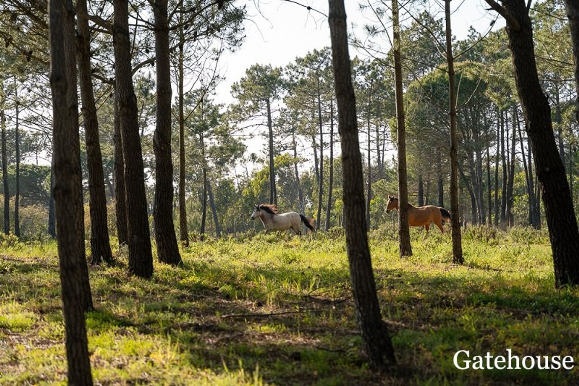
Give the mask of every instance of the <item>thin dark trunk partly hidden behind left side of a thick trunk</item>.
[[115, 214], [116, 214], [116, 233], [119, 238], [119, 246], [127, 243], [127, 196], [124, 188], [124, 157], [123, 157], [123, 139], [120, 134], [120, 110], [119, 110], [119, 93], [115, 90], [115, 133], [113, 141], [115, 143], [115, 165], [113, 174], [115, 174]]

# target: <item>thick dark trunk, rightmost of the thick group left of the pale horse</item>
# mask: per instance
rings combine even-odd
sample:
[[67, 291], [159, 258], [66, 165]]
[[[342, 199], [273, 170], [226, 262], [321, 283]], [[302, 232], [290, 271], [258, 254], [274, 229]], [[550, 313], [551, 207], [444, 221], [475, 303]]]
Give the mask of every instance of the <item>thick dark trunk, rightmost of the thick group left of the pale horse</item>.
[[155, 151], [155, 202], [153, 223], [157, 256], [161, 263], [183, 263], [173, 224], [173, 158], [171, 156], [171, 64], [169, 60], [168, 0], [155, 0], [155, 66], [157, 74], [157, 122]]

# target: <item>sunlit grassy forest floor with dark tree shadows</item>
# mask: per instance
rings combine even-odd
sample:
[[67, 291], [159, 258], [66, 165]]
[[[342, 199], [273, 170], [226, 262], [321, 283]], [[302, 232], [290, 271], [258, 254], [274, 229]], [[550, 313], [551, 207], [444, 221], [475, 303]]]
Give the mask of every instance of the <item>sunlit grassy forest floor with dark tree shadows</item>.
[[[97, 385], [579, 384], [573, 370], [458, 370], [453, 355], [573, 355], [579, 290], [554, 289], [546, 233], [470, 228], [465, 264], [450, 235], [412, 231], [398, 257], [391, 231], [371, 233], [372, 263], [398, 366], [368, 369], [357, 333], [340, 230], [194, 242], [183, 267], [150, 280], [90, 267], [87, 314]], [[0, 251], [0, 385], [64, 384], [56, 245]]]

